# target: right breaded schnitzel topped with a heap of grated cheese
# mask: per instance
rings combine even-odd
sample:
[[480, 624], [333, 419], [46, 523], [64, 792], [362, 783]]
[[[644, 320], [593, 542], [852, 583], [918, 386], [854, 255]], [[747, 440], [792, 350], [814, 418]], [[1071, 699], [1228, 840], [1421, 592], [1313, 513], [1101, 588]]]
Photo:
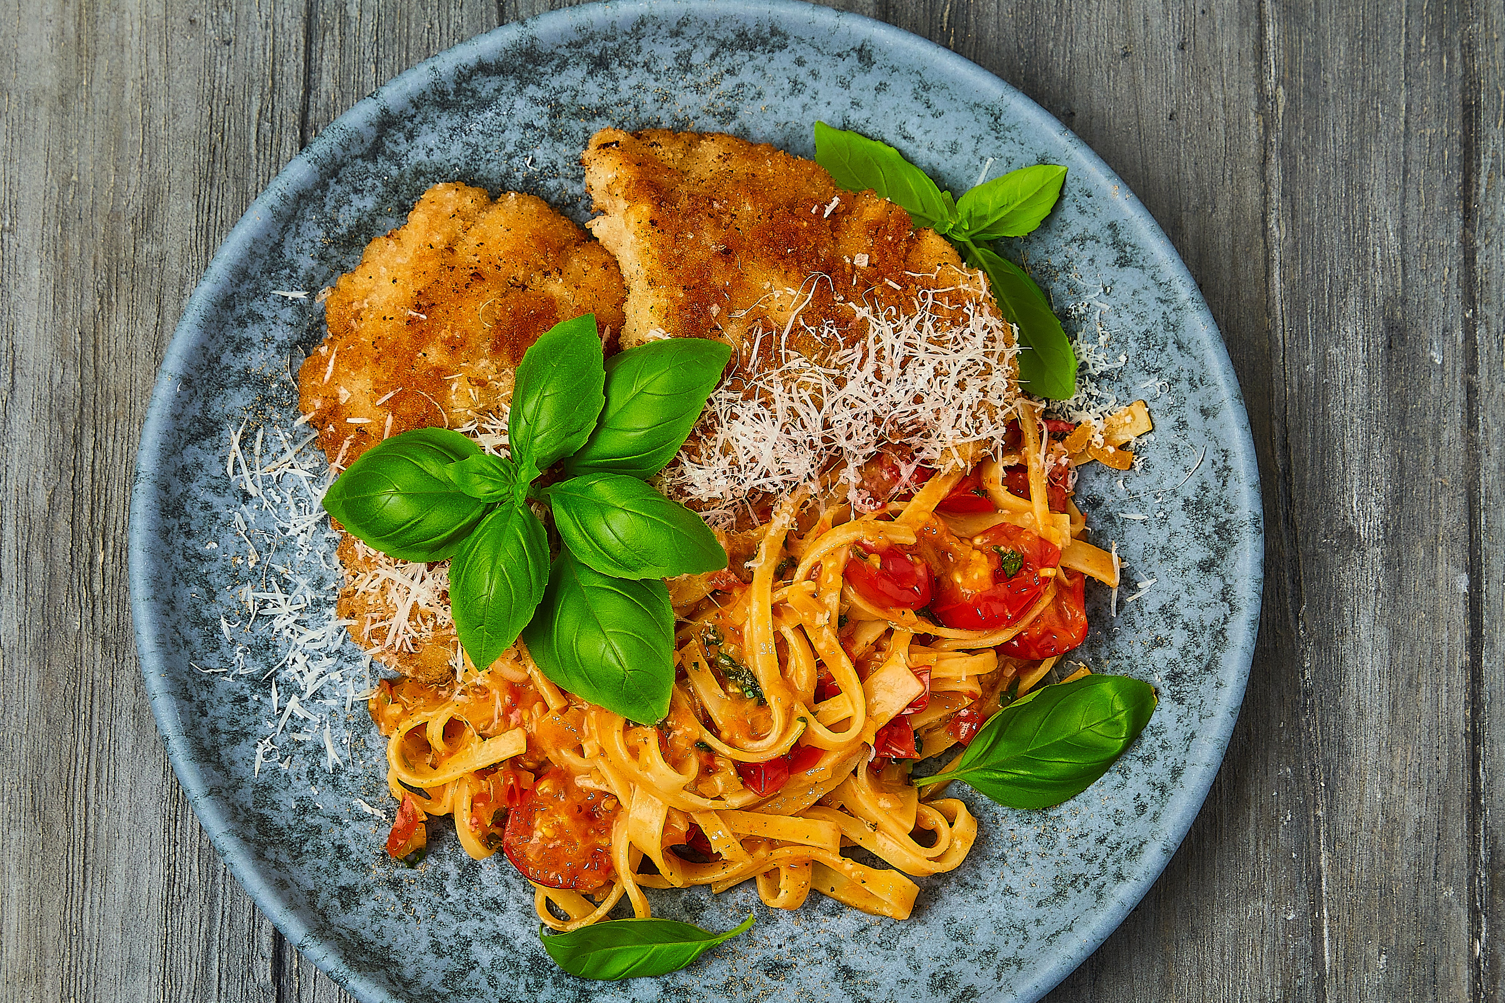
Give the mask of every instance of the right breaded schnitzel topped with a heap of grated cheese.
[[1013, 329], [981, 272], [901, 208], [719, 134], [602, 129], [584, 164], [605, 214], [587, 226], [628, 284], [623, 347], [736, 349], [670, 468], [682, 499], [710, 514], [832, 478], [856, 495], [879, 450], [945, 466], [1001, 438], [1017, 397]]

